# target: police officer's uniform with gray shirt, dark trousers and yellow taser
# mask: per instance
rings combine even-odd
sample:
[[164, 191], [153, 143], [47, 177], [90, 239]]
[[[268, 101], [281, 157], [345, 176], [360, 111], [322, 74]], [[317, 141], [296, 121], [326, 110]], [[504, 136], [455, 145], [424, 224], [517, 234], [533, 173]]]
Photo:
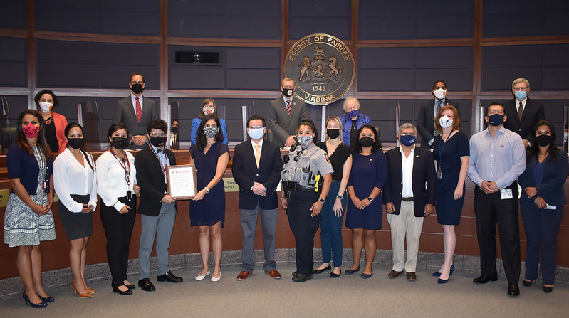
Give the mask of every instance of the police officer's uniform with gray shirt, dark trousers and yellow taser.
[[[328, 154], [314, 143], [302, 150], [291, 148], [283, 157], [283, 189], [286, 193], [288, 223], [296, 243], [296, 271], [312, 275], [314, 259], [314, 235], [322, 216], [311, 216], [310, 208], [319, 200], [322, 176], [331, 174], [334, 169]], [[324, 199], [320, 199], [324, 202]]]

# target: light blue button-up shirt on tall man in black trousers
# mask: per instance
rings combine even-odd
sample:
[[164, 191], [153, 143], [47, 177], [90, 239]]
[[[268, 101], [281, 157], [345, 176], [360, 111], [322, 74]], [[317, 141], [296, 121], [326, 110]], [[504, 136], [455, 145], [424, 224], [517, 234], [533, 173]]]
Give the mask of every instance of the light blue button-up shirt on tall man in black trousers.
[[470, 138], [468, 176], [478, 186], [482, 181], [496, 181], [503, 189], [526, 170], [526, 148], [520, 135], [500, 127], [496, 137], [488, 129]]

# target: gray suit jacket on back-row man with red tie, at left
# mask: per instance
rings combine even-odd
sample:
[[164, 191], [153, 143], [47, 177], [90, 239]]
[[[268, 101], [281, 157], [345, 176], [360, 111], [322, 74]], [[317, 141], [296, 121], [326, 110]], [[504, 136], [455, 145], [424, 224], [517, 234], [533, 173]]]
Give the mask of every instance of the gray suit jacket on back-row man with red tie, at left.
[[[156, 102], [142, 96], [142, 117], [140, 123], [136, 120], [135, 107], [132, 105], [131, 95], [119, 100], [117, 103], [117, 110], [113, 122], [122, 122], [126, 125], [128, 133], [131, 136], [145, 135], [147, 133], [147, 126], [150, 120], [160, 118], [160, 110], [156, 107]], [[137, 146], [130, 143], [130, 148], [142, 149], [146, 145]]]

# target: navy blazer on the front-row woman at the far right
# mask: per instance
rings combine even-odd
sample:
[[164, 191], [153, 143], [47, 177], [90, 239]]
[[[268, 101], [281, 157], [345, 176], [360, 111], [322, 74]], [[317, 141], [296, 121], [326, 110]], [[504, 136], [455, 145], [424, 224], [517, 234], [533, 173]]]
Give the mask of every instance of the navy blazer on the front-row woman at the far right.
[[[563, 184], [567, 179], [567, 172], [569, 169], [569, 161], [567, 161], [567, 152], [559, 151], [559, 156], [554, 162], [545, 159], [545, 167], [543, 167], [543, 179], [541, 184], [536, 186], [536, 179], [533, 176], [533, 170], [536, 166], [536, 158], [531, 159], [526, 165], [526, 171], [518, 176], [518, 183], [521, 189], [526, 189], [528, 186], [536, 186], [538, 191], [537, 196], [541, 196], [545, 203], [550, 206], [562, 206], [567, 203], [565, 201], [565, 193], [563, 192]], [[534, 204], [533, 198], [528, 198], [524, 192], [520, 196], [520, 204]]]

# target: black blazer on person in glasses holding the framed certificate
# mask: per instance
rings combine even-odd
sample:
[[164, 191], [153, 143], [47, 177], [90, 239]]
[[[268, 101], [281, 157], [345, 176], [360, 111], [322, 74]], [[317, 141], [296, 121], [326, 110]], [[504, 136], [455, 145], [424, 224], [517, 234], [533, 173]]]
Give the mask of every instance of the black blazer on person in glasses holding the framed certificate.
[[[174, 153], [166, 149], [170, 166], [176, 164]], [[150, 147], [140, 150], [135, 157], [136, 180], [140, 186], [138, 213], [145, 216], [157, 216], [160, 213], [162, 198], [166, 194], [166, 183], [160, 160]], [[176, 203], [174, 203], [176, 204]]]

